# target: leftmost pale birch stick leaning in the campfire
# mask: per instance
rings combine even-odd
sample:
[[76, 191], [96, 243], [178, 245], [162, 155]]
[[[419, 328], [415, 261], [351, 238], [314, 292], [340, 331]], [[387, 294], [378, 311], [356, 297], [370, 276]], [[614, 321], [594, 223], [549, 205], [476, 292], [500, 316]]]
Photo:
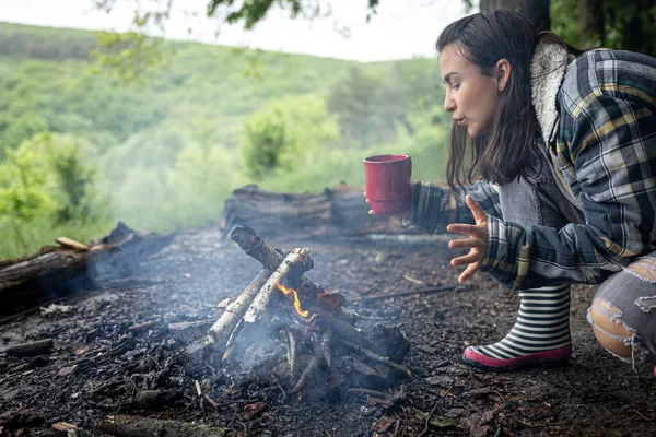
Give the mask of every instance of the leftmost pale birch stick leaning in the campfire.
[[255, 276], [253, 282], [250, 282], [239, 297], [225, 308], [225, 312], [221, 315], [219, 320], [216, 320], [208, 331], [206, 346], [215, 349], [226, 347], [225, 344], [229, 336], [234, 333], [237, 323], [242, 320], [242, 317], [244, 317], [244, 314], [255, 299], [255, 296], [259, 293], [260, 288], [267, 283], [271, 273], [272, 272], [268, 269], [260, 270], [258, 275]]

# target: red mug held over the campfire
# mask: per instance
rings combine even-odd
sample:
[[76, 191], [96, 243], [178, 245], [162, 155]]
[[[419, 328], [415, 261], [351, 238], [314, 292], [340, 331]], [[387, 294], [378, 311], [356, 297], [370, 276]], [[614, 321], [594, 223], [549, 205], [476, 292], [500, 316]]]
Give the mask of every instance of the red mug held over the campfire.
[[407, 153], [364, 158], [364, 184], [376, 214], [394, 214], [410, 208], [412, 160]]

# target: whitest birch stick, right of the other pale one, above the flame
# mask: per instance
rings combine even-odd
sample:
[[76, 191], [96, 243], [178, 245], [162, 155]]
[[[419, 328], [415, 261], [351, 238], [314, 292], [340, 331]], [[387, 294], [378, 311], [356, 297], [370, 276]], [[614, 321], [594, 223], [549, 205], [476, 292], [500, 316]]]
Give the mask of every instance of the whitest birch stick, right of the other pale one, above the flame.
[[267, 309], [269, 300], [274, 291], [280, 291], [280, 283], [285, 276], [290, 276], [292, 281], [301, 277], [306, 270], [312, 269], [313, 262], [309, 258], [309, 249], [294, 249], [288, 255], [284, 260], [278, 265], [278, 269], [271, 274], [267, 283], [260, 288], [253, 304], [244, 315], [244, 321], [248, 323], [257, 322], [262, 312]]

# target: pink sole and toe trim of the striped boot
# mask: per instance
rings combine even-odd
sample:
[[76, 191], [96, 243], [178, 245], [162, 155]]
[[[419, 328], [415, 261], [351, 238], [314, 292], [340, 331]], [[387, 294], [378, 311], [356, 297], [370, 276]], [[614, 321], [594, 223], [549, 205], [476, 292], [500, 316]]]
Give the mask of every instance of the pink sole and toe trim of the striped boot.
[[570, 356], [572, 356], [572, 346], [538, 352], [516, 358], [497, 359], [483, 355], [476, 347], [469, 346], [465, 350], [462, 359], [466, 364], [483, 370], [512, 371], [537, 365], [562, 364], [567, 362]]

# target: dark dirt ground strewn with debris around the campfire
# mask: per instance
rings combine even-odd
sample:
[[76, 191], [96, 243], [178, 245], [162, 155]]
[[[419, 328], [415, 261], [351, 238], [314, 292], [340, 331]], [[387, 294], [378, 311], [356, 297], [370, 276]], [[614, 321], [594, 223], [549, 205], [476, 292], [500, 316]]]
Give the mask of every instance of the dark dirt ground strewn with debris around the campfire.
[[[256, 229], [257, 232], [257, 229]], [[248, 436], [654, 436], [656, 377], [652, 367], [621, 363], [597, 345], [585, 321], [595, 288], [572, 291], [574, 356], [569, 365], [487, 374], [461, 363], [466, 345], [493, 342], [512, 327], [515, 293], [478, 274], [448, 292], [378, 299], [456, 284], [446, 238], [427, 241], [268, 237], [283, 250], [312, 249], [308, 276], [339, 292], [359, 324], [401, 329], [411, 342], [403, 362], [417, 377], [399, 381], [406, 397], [391, 408], [366, 395], [297, 401], [276, 383], [234, 386], [216, 369], [185, 362], [167, 323], [213, 317], [260, 265], [218, 229], [179, 234], [141, 263], [132, 286], [68, 299], [69, 312], [34, 314], [0, 326], [0, 344], [54, 340], [49, 355], [0, 356], [0, 435], [57, 436], [67, 422], [77, 435], [104, 435], [94, 423], [126, 413], [233, 428]], [[129, 328], [151, 322], [138, 330]], [[214, 405], [196, 395], [195, 380]], [[175, 395], [155, 411], [130, 406], [140, 390]], [[255, 406], [254, 406], [255, 405]]]

